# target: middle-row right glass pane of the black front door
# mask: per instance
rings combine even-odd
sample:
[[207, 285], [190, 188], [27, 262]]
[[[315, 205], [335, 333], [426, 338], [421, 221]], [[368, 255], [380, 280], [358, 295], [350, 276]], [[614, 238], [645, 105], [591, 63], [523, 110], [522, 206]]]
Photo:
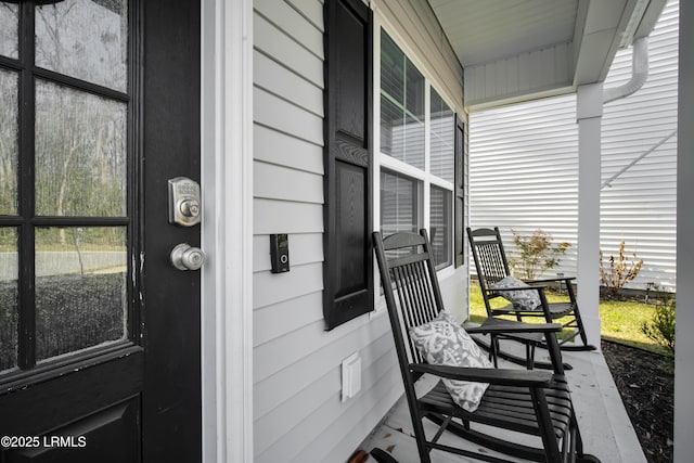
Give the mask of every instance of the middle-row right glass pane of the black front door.
[[126, 215], [127, 105], [36, 83], [36, 214]]

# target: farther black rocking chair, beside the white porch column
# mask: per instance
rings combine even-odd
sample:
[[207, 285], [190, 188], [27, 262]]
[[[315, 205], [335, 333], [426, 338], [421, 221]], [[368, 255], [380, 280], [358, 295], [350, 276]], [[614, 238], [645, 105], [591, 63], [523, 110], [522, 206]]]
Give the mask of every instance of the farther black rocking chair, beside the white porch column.
[[[467, 239], [470, 240], [470, 247], [473, 252], [473, 258], [475, 260], [475, 268], [477, 269], [477, 278], [479, 280], [479, 287], [485, 300], [485, 307], [487, 314], [490, 318], [498, 316], [515, 316], [516, 320], [523, 321], [524, 317], [543, 317], [548, 323], [552, 323], [554, 320], [568, 317], [568, 321], [563, 324], [565, 329], [574, 329], [574, 332], [560, 342], [560, 348], [563, 350], [594, 350], [595, 346], [588, 344], [586, 336], [586, 330], [583, 327], [583, 321], [578, 309], [576, 301], [576, 294], [574, 293], [574, 286], [571, 281], [574, 278], [556, 278], [556, 279], [543, 279], [526, 281], [528, 285], [532, 286], [534, 291], [537, 291], [540, 298], [540, 310], [528, 310], [520, 308], [514, 304], [500, 309], [492, 309], [490, 300], [496, 297], [502, 297], [500, 292], [514, 292], [522, 291], [518, 287], [500, 287], [499, 282], [506, 276], [511, 276], [509, 270], [509, 261], [506, 260], [506, 254], [501, 241], [501, 233], [499, 228], [494, 227], [493, 230], [480, 228], [477, 230], [471, 230], [467, 228]], [[543, 284], [551, 282], [561, 282], [566, 286], [568, 293], [568, 303], [548, 303], [544, 295], [545, 286]], [[582, 345], [568, 344], [570, 340], [579, 337]]]

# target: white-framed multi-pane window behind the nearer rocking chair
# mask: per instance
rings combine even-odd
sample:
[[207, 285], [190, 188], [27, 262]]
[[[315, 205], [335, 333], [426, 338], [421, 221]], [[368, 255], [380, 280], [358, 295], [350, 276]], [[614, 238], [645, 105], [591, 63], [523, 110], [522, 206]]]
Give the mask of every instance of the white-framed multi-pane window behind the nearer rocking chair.
[[453, 265], [455, 114], [391, 36], [377, 27], [375, 222], [384, 235], [426, 228], [440, 270]]

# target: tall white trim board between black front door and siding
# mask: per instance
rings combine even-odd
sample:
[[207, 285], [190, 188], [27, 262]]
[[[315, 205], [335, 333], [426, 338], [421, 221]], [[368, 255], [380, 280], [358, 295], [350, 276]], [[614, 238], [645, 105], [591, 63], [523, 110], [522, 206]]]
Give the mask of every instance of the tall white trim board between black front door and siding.
[[253, 461], [253, 1], [202, 1], [203, 461]]

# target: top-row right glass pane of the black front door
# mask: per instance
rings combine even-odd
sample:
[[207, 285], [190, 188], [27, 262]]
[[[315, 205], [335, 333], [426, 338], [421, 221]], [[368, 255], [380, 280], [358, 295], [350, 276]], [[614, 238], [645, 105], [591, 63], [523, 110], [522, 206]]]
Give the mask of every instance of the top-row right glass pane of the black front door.
[[36, 65], [126, 91], [127, 0], [65, 0], [36, 8]]

